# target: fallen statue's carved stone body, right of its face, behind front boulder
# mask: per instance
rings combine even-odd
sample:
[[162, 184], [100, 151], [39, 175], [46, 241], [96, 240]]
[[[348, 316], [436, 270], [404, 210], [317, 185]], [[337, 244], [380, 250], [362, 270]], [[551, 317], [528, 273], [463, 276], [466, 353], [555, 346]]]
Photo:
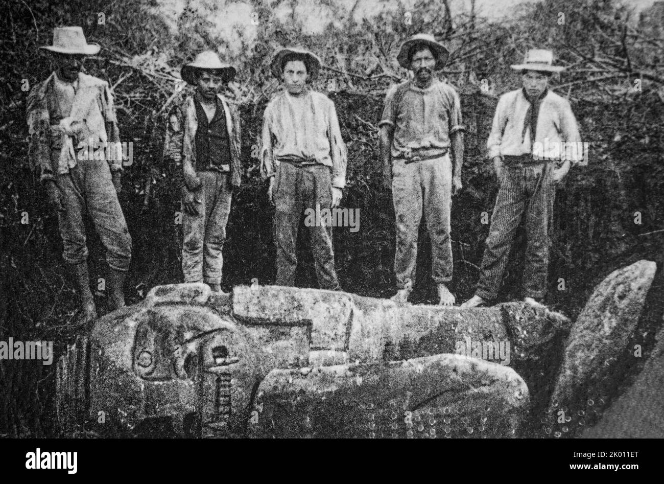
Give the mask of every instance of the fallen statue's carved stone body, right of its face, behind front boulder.
[[235, 287], [232, 316], [248, 326], [305, 324], [310, 349], [345, 353], [341, 363], [457, 353], [513, 365], [539, 360], [570, 327], [564, 316], [523, 302], [444, 308], [278, 286]]

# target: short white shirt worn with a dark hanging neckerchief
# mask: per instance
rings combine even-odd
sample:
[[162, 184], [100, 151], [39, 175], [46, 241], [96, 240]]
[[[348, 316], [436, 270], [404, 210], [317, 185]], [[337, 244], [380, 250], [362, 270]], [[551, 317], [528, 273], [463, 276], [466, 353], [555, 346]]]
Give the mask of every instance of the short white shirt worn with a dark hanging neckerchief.
[[583, 151], [576, 146], [570, 150], [564, 146], [581, 142], [568, 100], [550, 90], [546, 93], [540, 100], [535, 136], [531, 132], [530, 106], [523, 89], [506, 92], [500, 97], [487, 141], [489, 158], [532, 154], [535, 160], [579, 162]]

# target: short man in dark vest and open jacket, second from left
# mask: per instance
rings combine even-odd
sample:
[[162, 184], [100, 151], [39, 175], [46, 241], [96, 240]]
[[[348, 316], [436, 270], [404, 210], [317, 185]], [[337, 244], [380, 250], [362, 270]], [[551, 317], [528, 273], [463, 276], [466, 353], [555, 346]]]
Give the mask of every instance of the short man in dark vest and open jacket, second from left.
[[181, 165], [175, 177], [183, 207], [182, 271], [185, 283], [221, 292], [226, 223], [241, 167], [240, 116], [219, 90], [236, 70], [205, 51], [180, 74], [196, 91], [169, 114], [164, 158]]

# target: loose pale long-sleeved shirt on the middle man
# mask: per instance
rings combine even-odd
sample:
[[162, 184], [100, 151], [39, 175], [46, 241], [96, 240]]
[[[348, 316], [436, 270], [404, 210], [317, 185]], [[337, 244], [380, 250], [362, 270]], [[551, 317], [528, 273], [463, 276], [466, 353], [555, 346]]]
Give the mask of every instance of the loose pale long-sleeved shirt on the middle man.
[[346, 184], [346, 146], [334, 102], [307, 91], [280, 92], [265, 108], [260, 157], [264, 175], [272, 174], [283, 157], [313, 160], [332, 169], [332, 186]]

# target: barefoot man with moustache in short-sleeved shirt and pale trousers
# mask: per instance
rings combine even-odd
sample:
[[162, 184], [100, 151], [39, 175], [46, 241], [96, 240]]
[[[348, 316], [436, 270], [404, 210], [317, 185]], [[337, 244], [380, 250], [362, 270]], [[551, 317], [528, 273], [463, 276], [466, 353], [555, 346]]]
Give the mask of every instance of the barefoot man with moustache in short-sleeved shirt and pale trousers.
[[[463, 124], [459, 96], [450, 84], [434, 78], [444, 67], [448, 50], [432, 35], [414, 35], [404, 42], [397, 60], [414, 79], [391, 88], [385, 98], [380, 127], [384, 185], [391, 187], [396, 215], [397, 293], [405, 303], [415, 281], [418, 231], [422, 214], [431, 237], [432, 277], [439, 304], [451, 306], [452, 195], [461, 188]], [[450, 160], [454, 156], [454, 167]]]

